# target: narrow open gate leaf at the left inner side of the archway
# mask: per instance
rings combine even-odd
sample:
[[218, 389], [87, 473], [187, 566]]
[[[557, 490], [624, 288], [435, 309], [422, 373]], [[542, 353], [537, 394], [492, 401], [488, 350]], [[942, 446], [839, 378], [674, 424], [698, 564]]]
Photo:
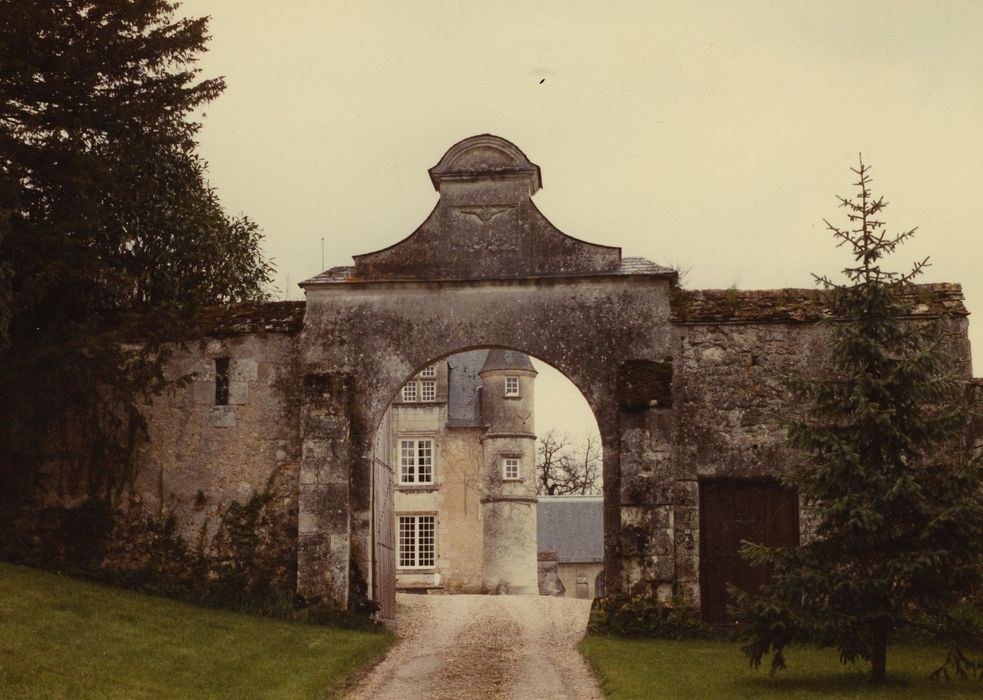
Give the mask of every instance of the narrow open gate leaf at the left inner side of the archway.
[[393, 522], [393, 469], [372, 459], [372, 598], [383, 617], [396, 612], [396, 525]]

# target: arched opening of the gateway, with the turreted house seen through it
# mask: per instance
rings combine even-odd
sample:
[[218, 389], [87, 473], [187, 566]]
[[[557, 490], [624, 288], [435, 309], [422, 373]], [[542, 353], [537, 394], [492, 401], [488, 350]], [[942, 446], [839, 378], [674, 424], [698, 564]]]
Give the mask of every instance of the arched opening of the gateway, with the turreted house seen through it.
[[371, 455], [370, 590], [592, 598], [603, 459], [563, 373], [500, 347], [430, 361], [391, 394]]

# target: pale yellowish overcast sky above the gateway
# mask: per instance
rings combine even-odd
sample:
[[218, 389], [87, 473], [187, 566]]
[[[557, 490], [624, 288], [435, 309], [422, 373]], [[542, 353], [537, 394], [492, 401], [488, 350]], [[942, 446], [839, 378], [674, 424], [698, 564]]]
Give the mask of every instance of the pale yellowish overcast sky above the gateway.
[[[983, 374], [983, 2], [188, 0], [223, 75], [201, 152], [296, 283], [429, 214], [427, 176], [493, 133], [561, 230], [688, 269], [690, 288], [811, 287], [847, 259], [857, 153], [893, 229], [960, 282]], [[288, 286], [289, 281], [289, 286]], [[551, 391], [540, 381], [540, 396]], [[540, 429], [564, 420], [539, 402]]]

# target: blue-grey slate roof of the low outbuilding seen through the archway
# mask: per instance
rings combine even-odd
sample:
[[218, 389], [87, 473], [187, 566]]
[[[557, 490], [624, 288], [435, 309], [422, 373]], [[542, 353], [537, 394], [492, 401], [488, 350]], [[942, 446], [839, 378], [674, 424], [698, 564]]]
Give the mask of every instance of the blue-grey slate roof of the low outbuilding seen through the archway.
[[556, 552], [561, 564], [604, 561], [604, 499], [540, 496], [536, 503], [540, 552]]

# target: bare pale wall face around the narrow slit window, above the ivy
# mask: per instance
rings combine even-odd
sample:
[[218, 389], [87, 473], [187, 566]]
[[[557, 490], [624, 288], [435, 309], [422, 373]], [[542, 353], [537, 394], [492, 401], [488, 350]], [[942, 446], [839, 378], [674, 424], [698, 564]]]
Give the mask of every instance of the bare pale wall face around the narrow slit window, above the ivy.
[[[228, 404], [215, 404], [215, 360], [229, 359]], [[150, 440], [133, 496], [148, 513], [173, 513], [194, 541], [213, 535], [233, 501], [275, 479], [296, 492], [300, 464], [297, 338], [242, 333], [188, 342], [167, 365], [176, 384], [144, 407]]]

